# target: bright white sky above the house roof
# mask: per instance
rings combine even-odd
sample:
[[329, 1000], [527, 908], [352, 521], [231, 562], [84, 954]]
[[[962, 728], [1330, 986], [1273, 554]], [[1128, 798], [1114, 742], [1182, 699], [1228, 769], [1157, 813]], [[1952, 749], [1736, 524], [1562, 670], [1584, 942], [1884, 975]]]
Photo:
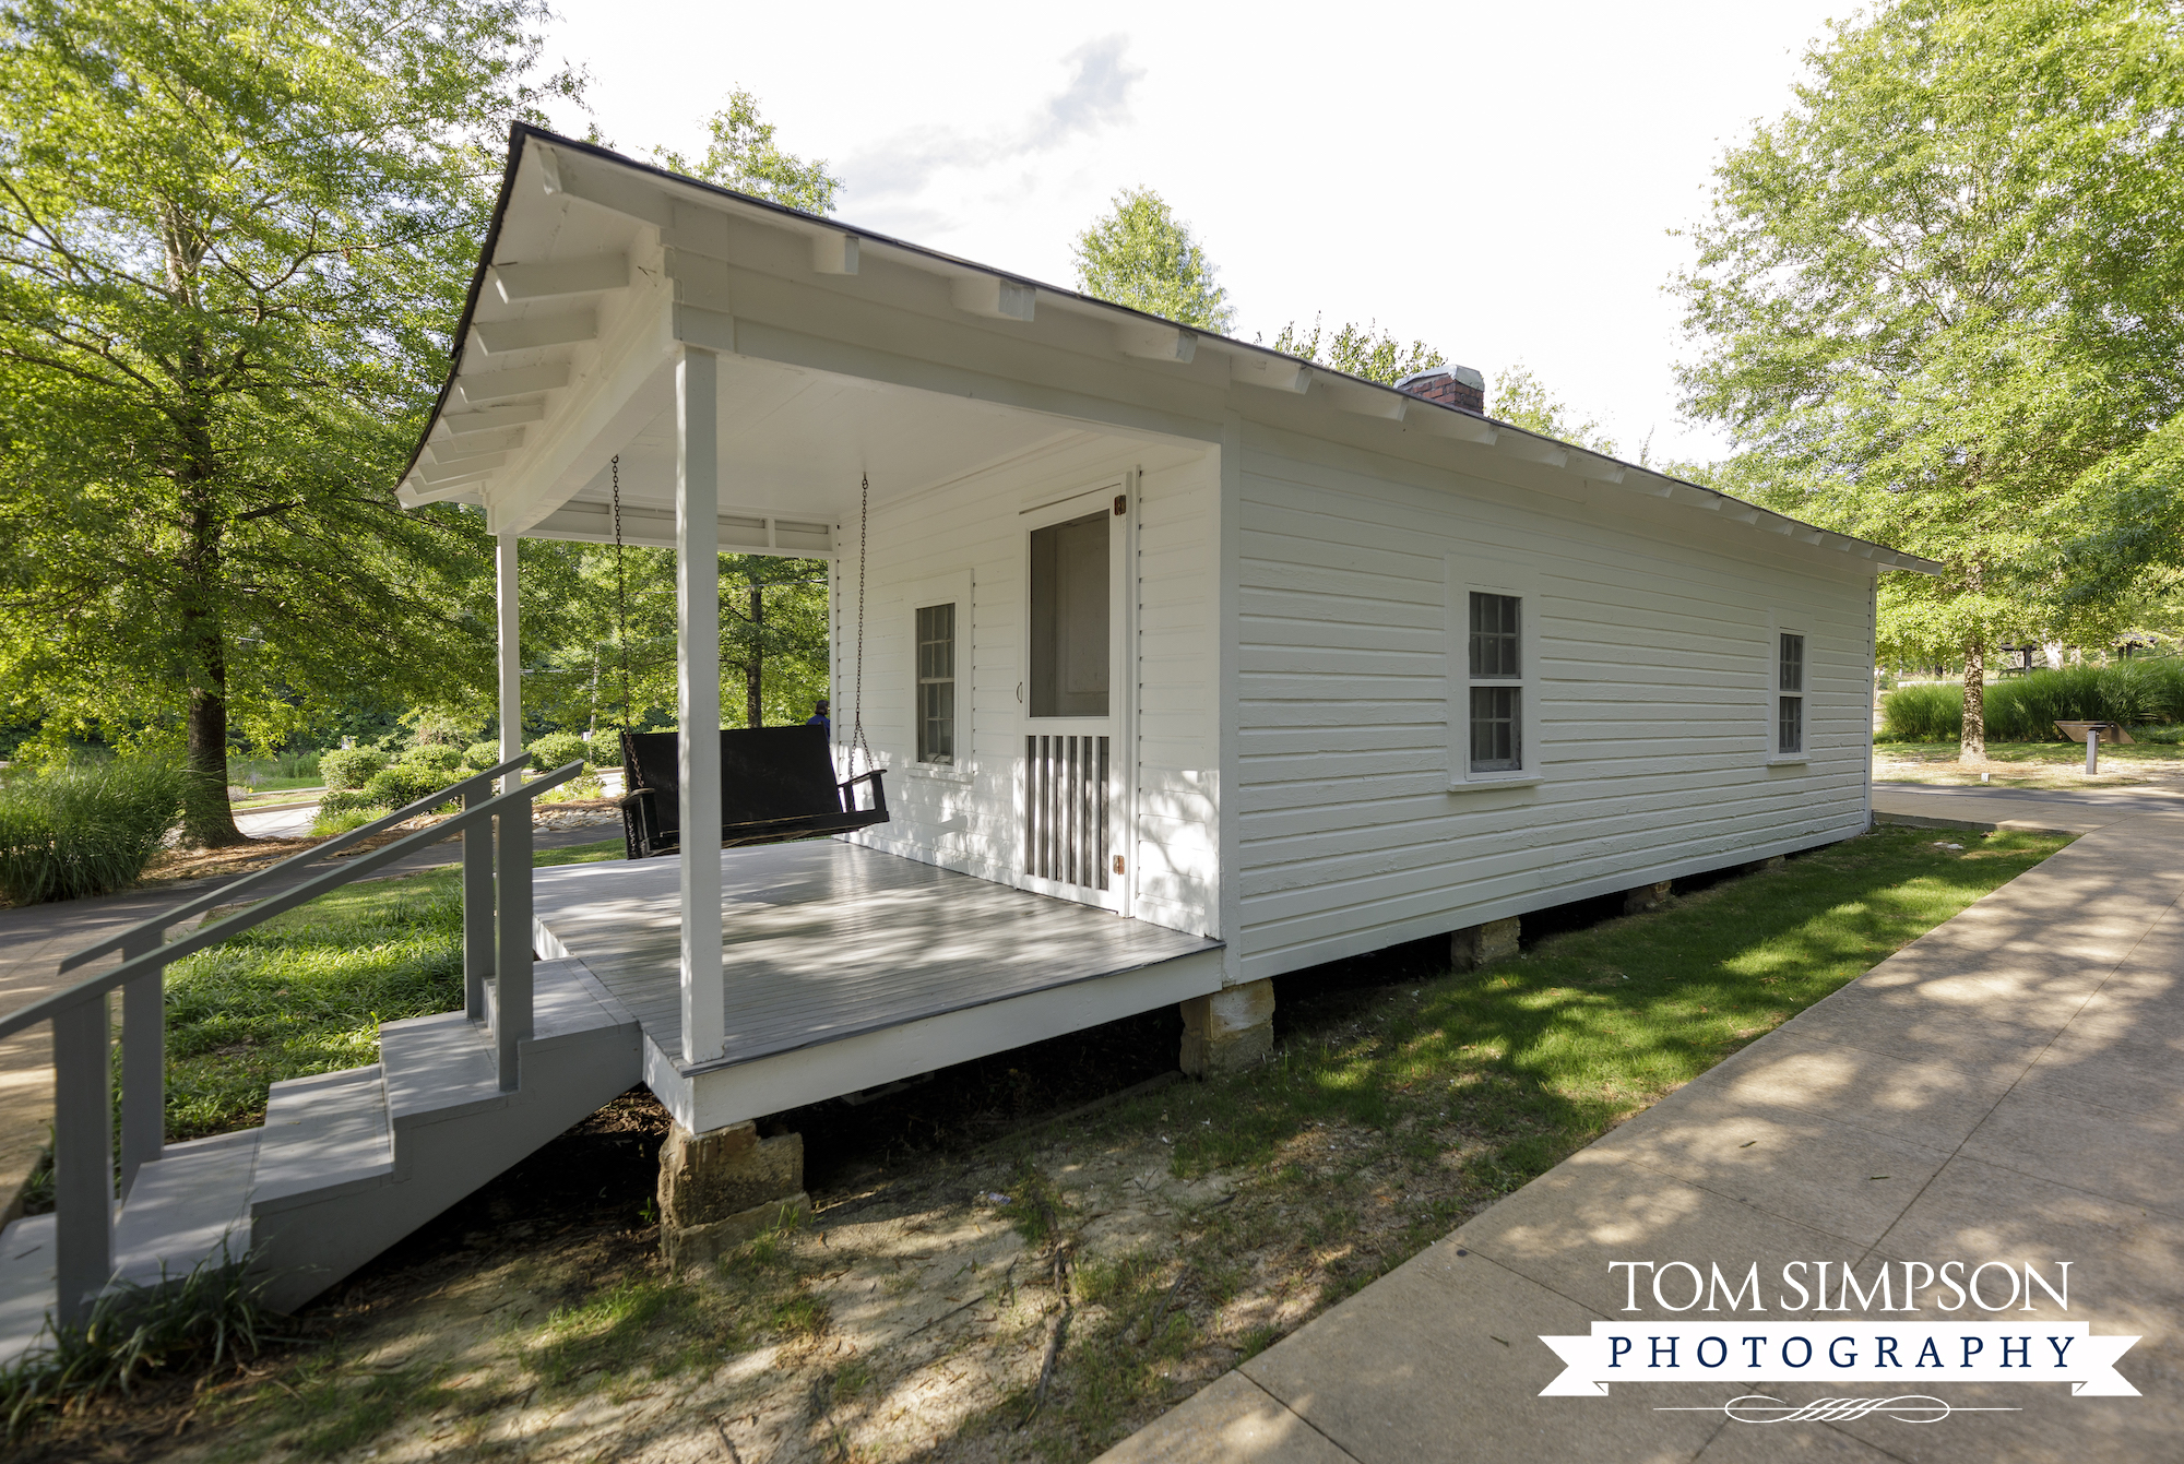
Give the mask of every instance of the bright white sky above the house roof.
[[[1531, 369], [1623, 457], [1712, 461], [1664, 286], [1725, 146], [1793, 103], [1841, 7], [904, 7], [557, 0], [627, 153], [701, 155], [736, 87], [847, 184], [839, 216], [1075, 286], [1070, 240], [1160, 192], [1271, 341], [1321, 315]], [[1489, 402], [1492, 411], [1492, 402]]]

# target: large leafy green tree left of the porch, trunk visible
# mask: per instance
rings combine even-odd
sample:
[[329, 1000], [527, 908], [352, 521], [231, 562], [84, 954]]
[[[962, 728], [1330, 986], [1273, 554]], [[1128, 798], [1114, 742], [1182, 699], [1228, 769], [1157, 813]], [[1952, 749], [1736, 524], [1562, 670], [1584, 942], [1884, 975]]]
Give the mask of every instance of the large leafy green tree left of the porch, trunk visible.
[[485, 680], [476, 516], [393, 483], [533, 83], [535, 0], [0, 13], [0, 721], [179, 743]]

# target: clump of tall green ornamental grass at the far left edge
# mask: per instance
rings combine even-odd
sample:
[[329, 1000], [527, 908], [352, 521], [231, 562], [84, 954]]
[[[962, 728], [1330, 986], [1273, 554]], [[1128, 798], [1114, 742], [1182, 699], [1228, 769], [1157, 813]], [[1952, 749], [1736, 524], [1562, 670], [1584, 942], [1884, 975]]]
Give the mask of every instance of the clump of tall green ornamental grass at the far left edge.
[[90, 763], [0, 789], [0, 894], [15, 905], [133, 885], [181, 819], [190, 778], [168, 763]]

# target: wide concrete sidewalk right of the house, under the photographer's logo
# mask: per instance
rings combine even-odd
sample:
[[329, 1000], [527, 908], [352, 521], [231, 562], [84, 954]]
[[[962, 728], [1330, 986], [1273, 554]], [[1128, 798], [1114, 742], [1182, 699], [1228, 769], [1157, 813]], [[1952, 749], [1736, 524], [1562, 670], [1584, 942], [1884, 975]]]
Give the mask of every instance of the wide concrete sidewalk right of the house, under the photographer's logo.
[[[1105, 1460], [2184, 1457], [2184, 811], [2003, 804], [2092, 833]], [[1612, 1261], [1719, 1263], [1734, 1276], [1756, 1261], [1769, 1320], [1795, 1320], [1773, 1307], [1787, 1261], [1850, 1261], [1870, 1276], [1878, 1261], [1948, 1259], [2049, 1274], [2070, 1261], [2068, 1313], [2042, 1296], [2005, 1320], [2140, 1335], [2118, 1372], [2145, 1396], [1769, 1383], [1762, 1392], [1795, 1405], [1933, 1394], [1957, 1409], [2018, 1409], [1780, 1425], [1730, 1420], [1721, 1405], [1752, 1392], [1732, 1383], [1538, 1396], [1562, 1370], [1542, 1333], [1673, 1315], [1645, 1285], [1640, 1311], [1625, 1311]]]

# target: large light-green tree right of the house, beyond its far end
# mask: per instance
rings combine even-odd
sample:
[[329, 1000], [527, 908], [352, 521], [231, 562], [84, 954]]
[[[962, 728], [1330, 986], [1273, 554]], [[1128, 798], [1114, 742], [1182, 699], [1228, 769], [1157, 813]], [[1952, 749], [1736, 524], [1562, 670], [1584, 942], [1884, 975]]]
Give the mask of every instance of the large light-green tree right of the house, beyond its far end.
[[2184, 20], [1900, 0], [1806, 61], [1719, 164], [1673, 286], [1701, 345], [1686, 409], [1743, 448], [1747, 492], [1942, 562], [1883, 581], [1880, 645], [1961, 653], [1983, 760], [1987, 649], [2090, 638], [2173, 559], [2116, 516], [2184, 400]]

